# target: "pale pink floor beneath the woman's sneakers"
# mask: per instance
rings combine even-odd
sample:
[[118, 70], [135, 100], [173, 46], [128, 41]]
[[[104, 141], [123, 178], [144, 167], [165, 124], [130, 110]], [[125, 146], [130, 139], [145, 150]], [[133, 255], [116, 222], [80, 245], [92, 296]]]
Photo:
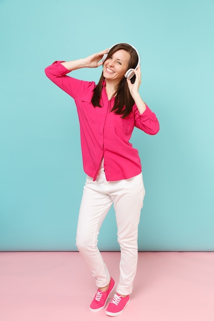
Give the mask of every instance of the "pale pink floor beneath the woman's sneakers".
[[[118, 281], [119, 252], [103, 252]], [[1, 252], [0, 321], [112, 319], [90, 312], [96, 287], [77, 252]], [[131, 301], [115, 320], [213, 321], [213, 252], [140, 252]]]

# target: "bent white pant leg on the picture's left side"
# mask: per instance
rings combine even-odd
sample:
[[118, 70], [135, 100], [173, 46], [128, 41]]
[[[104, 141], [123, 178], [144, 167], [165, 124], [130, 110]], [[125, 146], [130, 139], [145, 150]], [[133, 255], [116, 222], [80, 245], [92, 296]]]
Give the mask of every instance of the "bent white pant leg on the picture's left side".
[[76, 233], [76, 246], [100, 288], [110, 282], [108, 269], [97, 246], [101, 225], [112, 205], [110, 196], [104, 192], [104, 178], [104, 171], [99, 173], [96, 182], [87, 176]]

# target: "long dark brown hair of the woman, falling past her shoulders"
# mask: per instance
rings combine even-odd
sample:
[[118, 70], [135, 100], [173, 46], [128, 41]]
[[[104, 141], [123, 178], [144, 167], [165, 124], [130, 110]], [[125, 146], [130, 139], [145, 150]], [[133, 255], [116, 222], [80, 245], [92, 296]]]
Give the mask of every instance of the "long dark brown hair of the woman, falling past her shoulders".
[[[121, 49], [130, 53], [128, 69], [136, 68], [136, 66], [138, 65], [138, 54], [135, 51], [135, 49], [128, 44], [121, 43], [121, 44], [117, 44], [117, 45], [113, 46], [109, 50], [108, 55], [111, 56], [116, 51], [121, 50]], [[108, 58], [108, 56], [107, 56], [107, 58]], [[94, 107], [102, 107], [100, 100], [101, 100], [102, 85], [103, 85], [104, 79], [105, 78], [104, 78], [103, 72], [102, 72], [99, 83], [94, 88], [93, 96], [91, 98], [91, 103]], [[135, 81], [135, 75], [131, 78], [131, 82], [133, 83], [134, 81]], [[113, 111], [115, 114], [122, 115], [122, 118], [125, 118], [126, 116], [128, 116], [130, 114], [133, 105], [134, 105], [134, 99], [132, 98], [132, 96], [129, 92], [128, 84], [127, 84], [126, 78], [124, 76], [122, 78], [120, 84], [118, 85], [118, 88], [116, 88], [116, 96], [115, 96], [114, 106], [112, 107], [111, 111]]]

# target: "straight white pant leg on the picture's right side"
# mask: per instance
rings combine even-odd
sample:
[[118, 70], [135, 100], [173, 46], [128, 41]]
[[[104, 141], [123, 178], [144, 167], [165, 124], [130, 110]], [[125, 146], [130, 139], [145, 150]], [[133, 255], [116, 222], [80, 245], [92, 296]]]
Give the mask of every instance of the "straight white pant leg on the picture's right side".
[[111, 194], [114, 202], [118, 242], [121, 248], [120, 280], [117, 292], [128, 295], [132, 292], [138, 263], [138, 225], [145, 189], [142, 173], [121, 181], [122, 187]]

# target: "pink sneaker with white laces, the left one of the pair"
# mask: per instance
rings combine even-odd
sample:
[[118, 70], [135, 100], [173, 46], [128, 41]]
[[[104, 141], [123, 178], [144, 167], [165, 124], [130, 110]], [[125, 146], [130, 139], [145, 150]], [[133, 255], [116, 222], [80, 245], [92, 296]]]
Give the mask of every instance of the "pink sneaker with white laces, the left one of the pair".
[[114, 286], [115, 286], [115, 282], [111, 277], [109, 288], [107, 291], [103, 292], [98, 289], [98, 291], [96, 292], [96, 294], [90, 304], [90, 310], [92, 312], [100, 311], [105, 308], [106, 303], [107, 303], [107, 299], [108, 299], [109, 295], [111, 294]]

